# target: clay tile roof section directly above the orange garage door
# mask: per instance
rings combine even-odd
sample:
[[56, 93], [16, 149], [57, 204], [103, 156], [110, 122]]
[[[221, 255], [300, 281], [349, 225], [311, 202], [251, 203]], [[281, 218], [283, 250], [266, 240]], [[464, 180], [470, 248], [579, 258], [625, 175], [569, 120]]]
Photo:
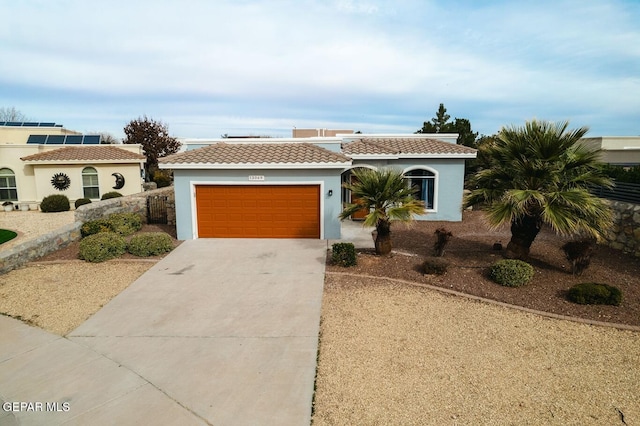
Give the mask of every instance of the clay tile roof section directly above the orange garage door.
[[324, 164], [350, 162], [348, 157], [310, 143], [219, 142], [160, 159], [168, 164]]

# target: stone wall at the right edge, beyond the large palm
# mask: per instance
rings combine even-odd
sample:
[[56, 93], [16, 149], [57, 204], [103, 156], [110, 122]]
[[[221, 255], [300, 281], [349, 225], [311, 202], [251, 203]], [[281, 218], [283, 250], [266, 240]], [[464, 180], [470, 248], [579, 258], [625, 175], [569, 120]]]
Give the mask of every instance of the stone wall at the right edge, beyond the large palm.
[[605, 244], [640, 257], [640, 204], [622, 201], [608, 201], [608, 204], [613, 210], [613, 227]]

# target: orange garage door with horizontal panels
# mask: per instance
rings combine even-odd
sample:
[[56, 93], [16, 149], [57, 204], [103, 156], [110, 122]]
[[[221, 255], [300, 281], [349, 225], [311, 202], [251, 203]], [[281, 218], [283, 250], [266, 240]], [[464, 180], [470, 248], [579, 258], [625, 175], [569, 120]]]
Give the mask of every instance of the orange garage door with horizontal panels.
[[200, 238], [320, 238], [319, 185], [197, 185]]

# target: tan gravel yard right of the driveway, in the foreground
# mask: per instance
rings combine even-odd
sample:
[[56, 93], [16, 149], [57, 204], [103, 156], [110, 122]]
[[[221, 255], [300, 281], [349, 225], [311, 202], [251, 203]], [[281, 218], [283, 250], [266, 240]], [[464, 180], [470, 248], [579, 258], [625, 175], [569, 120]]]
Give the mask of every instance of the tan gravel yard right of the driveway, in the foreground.
[[327, 276], [316, 426], [632, 425], [638, 395], [638, 332]]

